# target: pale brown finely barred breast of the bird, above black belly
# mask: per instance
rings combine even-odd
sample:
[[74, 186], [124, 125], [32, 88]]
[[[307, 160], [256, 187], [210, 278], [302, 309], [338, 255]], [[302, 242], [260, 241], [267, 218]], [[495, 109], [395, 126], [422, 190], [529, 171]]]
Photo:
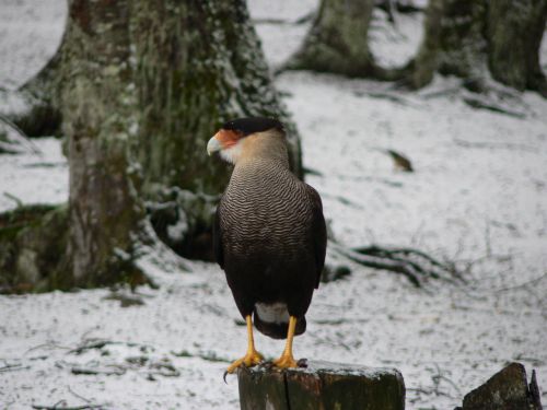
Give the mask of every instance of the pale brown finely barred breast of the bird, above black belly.
[[220, 204], [230, 250], [283, 256], [301, 251], [313, 218], [309, 189], [277, 161], [236, 167]]

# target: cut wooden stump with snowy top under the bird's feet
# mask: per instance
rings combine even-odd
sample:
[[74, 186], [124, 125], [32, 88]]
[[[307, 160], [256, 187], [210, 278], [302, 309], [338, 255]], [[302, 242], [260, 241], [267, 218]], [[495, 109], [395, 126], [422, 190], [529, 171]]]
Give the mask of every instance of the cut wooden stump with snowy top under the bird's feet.
[[309, 362], [305, 368], [241, 367], [242, 410], [401, 410], [405, 383], [395, 368]]

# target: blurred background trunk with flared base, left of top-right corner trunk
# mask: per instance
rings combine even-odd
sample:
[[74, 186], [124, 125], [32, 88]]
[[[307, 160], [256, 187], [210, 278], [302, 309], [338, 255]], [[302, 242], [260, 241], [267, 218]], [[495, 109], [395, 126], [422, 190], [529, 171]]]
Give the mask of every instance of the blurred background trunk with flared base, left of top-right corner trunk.
[[322, 0], [303, 46], [284, 69], [380, 80], [398, 79], [400, 70], [379, 67], [369, 48], [374, 3], [374, 0]]

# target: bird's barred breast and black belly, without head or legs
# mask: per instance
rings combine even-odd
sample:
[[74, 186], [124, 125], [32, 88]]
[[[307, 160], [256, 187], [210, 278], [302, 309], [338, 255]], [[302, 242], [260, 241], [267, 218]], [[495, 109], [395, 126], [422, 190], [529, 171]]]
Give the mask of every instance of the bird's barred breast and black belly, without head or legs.
[[[289, 315], [300, 318], [296, 335], [305, 331], [321, 273], [313, 241], [317, 199], [283, 163], [260, 159], [235, 167], [219, 206], [224, 270], [237, 307], [243, 316], [255, 312], [257, 329], [274, 338], [284, 338]], [[268, 320], [274, 306], [278, 314]]]

